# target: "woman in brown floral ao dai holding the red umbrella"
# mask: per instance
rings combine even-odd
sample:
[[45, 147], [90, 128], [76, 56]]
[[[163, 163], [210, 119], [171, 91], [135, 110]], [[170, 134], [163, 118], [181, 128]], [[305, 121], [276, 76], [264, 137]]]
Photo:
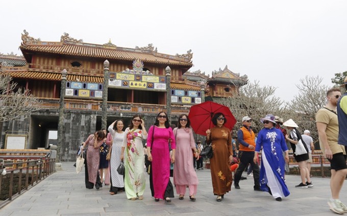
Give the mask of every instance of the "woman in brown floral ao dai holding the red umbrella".
[[231, 190], [233, 182], [230, 164], [233, 161], [233, 144], [230, 130], [224, 126], [227, 122], [223, 113], [218, 112], [212, 117], [214, 127], [206, 131], [206, 141], [211, 143], [213, 157], [210, 158], [213, 194], [220, 202]]

